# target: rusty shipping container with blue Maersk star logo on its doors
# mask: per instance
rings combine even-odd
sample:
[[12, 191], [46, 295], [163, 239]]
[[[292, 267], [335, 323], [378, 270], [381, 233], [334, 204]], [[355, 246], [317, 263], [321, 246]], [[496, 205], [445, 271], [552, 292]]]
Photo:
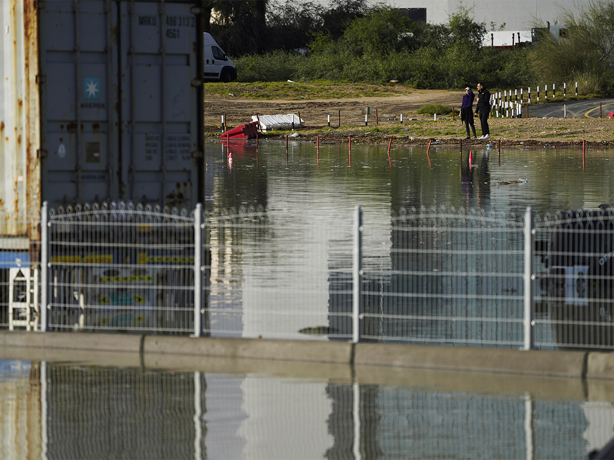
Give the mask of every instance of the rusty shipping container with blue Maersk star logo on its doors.
[[[199, 4], [0, 2], [0, 209], [201, 200]], [[37, 239], [17, 221], [0, 236]]]

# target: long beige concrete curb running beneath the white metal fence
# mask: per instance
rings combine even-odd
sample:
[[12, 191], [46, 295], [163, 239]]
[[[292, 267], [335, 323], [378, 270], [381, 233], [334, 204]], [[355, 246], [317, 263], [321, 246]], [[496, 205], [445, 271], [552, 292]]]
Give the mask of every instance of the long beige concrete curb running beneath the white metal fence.
[[301, 362], [347, 364], [368, 367], [373, 372], [413, 368], [614, 380], [614, 353], [597, 351], [23, 331], [0, 331], [0, 347], [4, 349], [2, 354], [9, 356], [18, 355], [19, 349], [36, 349], [37, 356], [57, 356], [51, 350], [67, 350], [66, 361], [85, 360], [90, 355], [103, 358], [109, 365], [138, 362], [161, 367], [175, 362], [187, 367], [190, 362], [223, 358], [295, 362], [298, 366]]

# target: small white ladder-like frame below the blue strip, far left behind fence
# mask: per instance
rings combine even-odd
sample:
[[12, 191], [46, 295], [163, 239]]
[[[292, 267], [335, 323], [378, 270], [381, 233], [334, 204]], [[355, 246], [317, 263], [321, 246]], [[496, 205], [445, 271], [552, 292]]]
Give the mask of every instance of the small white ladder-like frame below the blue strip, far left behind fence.
[[37, 267], [9, 269], [9, 331], [15, 326], [26, 331], [39, 327], [39, 283]]

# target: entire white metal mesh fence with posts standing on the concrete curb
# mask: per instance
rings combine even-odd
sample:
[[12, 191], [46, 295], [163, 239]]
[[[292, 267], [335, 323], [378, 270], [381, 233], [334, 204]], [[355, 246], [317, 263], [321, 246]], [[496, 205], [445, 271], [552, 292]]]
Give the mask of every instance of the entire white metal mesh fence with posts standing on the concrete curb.
[[[614, 212], [332, 218], [124, 202], [0, 215], [9, 329], [614, 347]], [[377, 222], [376, 222], [377, 220]], [[21, 228], [23, 227], [23, 229]], [[40, 234], [40, 237], [36, 236]]]

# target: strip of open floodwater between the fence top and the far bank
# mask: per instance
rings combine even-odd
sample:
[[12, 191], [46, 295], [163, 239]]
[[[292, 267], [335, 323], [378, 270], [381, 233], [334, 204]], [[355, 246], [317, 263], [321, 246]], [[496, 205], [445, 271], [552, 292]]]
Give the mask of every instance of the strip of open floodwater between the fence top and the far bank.
[[[614, 201], [612, 150], [582, 147], [320, 145], [253, 140], [206, 144], [205, 207], [268, 206], [301, 213], [390, 215], [403, 207], [463, 207], [524, 213]], [[468, 164], [472, 150], [475, 166]], [[319, 152], [319, 153], [318, 153]], [[526, 183], [509, 183], [518, 182]], [[507, 185], [498, 185], [507, 183]]]

